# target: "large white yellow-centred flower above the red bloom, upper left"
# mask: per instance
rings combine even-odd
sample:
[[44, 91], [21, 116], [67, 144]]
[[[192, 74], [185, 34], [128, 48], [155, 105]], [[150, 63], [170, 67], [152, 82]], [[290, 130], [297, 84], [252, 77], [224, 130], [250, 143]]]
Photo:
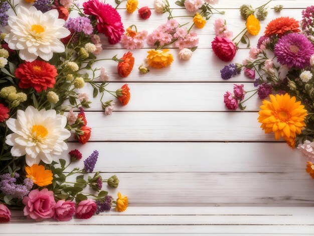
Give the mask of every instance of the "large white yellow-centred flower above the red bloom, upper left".
[[60, 39], [67, 37], [70, 31], [64, 28], [65, 21], [58, 19], [58, 11], [46, 13], [37, 11], [35, 7], [27, 9], [19, 7], [17, 16], [10, 16], [5, 37], [9, 47], [20, 50], [22, 60], [34, 61], [37, 57], [49, 61], [54, 52], [64, 52], [64, 44]]

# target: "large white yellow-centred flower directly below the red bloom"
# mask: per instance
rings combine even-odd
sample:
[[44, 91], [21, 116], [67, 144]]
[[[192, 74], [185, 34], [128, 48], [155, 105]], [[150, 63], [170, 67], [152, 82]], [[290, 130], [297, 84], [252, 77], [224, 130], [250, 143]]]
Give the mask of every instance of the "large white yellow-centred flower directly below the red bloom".
[[13, 146], [12, 156], [26, 155], [29, 166], [41, 160], [50, 164], [54, 156], [68, 149], [64, 140], [71, 134], [64, 128], [66, 124], [66, 116], [56, 114], [55, 110], [38, 110], [28, 106], [25, 111], [18, 110], [17, 119], [7, 121], [7, 126], [14, 133], [7, 136], [6, 144]]

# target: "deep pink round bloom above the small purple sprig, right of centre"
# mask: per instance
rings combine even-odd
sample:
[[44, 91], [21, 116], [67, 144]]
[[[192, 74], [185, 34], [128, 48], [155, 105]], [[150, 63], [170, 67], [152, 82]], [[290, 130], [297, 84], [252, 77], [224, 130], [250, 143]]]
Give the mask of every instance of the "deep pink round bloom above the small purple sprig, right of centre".
[[234, 42], [228, 38], [215, 37], [212, 42], [215, 55], [222, 61], [231, 61], [236, 54]]

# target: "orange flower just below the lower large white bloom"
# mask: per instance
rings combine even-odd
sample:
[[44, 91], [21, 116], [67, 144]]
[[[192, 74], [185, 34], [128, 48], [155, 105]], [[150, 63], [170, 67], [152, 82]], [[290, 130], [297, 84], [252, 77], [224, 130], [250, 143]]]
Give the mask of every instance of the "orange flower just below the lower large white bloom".
[[27, 173], [26, 177], [32, 179], [40, 187], [52, 184], [53, 174], [51, 170], [45, 170], [43, 165], [26, 166], [25, 172]]

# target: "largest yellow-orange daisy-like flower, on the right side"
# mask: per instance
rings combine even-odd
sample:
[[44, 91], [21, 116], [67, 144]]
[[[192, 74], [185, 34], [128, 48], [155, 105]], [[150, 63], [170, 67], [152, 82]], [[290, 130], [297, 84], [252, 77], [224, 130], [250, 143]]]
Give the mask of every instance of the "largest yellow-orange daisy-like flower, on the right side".
[[261, 128], [265, 130], [265, 134], [274, 132], [276, 140], [283, 137], [292, 145], [290, 139], [300, 134], [306, 126], [304, 120], [307, 111], [300, 101], [296, 102], [295, 97], [290, 97], [288, 93], [269, 97], [270, 101], [263, 100], [258, 112]]

